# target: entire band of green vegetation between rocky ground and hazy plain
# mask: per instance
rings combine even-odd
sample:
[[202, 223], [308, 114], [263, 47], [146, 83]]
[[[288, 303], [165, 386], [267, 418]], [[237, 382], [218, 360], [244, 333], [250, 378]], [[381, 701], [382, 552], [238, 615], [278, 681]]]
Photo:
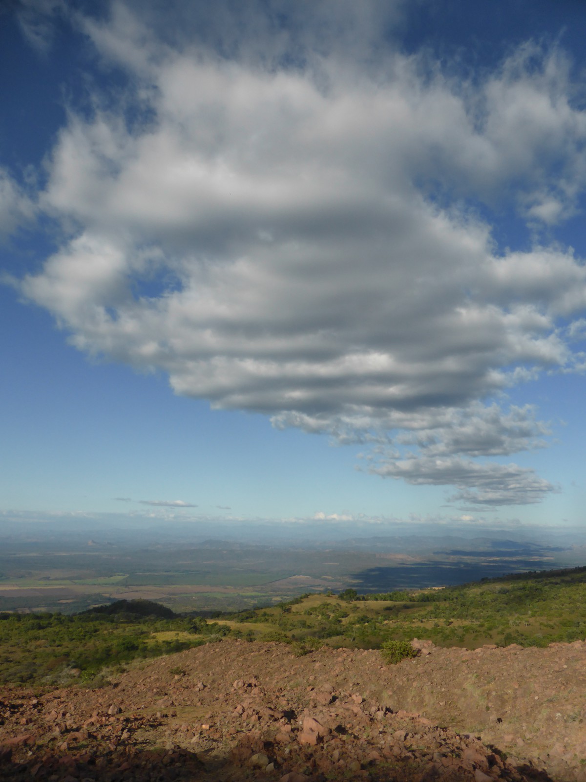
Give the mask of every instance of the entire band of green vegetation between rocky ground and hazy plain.
[[462, 587], [358, 595], [303, 594], [269, 608], [207, 618], [150, 601], [117, 601], [76, 615], [0, 614], [0, 683], [88, 682], [105, 666], [237, 637], [381, 648], [388, 662], [413, 637], [440, 646], [545, 646], [586, 638], [586, 568], [484, 579]]

